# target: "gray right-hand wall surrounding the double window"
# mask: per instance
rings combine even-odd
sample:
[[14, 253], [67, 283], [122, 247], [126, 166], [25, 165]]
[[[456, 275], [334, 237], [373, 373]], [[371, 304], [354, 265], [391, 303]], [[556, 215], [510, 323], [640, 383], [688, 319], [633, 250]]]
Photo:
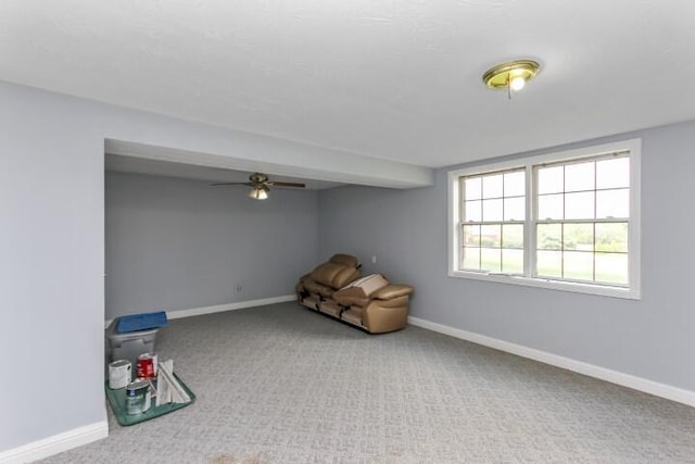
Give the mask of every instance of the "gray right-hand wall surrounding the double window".
[[563, 149], [633, 137], [643, 141], [640, 301], [447, 277], [447, 170], [433, 187], [321, 192], [320, 253], [357, 254], [365, 272], [414, 285], [414, 316], [695, 390], [695, 122]]

